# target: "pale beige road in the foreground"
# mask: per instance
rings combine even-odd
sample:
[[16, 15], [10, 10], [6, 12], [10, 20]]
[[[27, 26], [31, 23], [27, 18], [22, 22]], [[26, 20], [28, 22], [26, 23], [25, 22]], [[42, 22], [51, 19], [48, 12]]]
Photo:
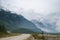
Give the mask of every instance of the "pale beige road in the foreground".
[[7, 38], [0, 38], [0, 40], [26, 40], [29, 38], [30, 34], [21, 34], [19, 36], [7, 37]]

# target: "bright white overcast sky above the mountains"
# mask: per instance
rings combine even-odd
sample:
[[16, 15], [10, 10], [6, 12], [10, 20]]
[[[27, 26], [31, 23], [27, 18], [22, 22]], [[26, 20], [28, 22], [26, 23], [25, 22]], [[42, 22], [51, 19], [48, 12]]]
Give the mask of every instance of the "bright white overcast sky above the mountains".
[[39, 19], [41, 15], [60, 12], [60, 0], [0, 0], [0, 6], [27, 19]]

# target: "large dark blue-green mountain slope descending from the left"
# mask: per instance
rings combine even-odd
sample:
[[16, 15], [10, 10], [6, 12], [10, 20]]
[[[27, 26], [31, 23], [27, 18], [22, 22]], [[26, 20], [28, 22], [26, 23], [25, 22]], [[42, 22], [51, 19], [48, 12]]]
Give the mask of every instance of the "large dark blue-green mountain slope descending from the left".
[[17, 15], [10, 11], [0, 10], [0, 24], [6, 27], [7, 31], [12, 33], [41, 33], [42, 31], [36, 27], [31, 21], [22, 15]]

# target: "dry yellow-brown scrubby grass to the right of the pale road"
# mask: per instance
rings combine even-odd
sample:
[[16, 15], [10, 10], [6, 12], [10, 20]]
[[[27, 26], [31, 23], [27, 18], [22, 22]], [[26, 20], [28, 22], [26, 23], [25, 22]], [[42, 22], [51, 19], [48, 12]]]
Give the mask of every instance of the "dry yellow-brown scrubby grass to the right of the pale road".
[[42, 40], [60, 40], [60, 34], [59, 35], [54, 35], [54, 34], [32, 34], [35, 39], [42, 39]]

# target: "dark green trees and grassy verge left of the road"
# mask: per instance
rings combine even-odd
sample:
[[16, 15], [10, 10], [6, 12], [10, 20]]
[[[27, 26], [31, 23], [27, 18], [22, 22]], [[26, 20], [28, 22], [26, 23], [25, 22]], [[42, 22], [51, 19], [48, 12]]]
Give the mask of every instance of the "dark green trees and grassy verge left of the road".
[[18, 33], [8, 33], [6, 28], [5, 28], [5, 25], [4, 24], [0, 24], [0, 38], [16, 36], [16, 35], [20, 35], [20, 34], [18, 34]]

